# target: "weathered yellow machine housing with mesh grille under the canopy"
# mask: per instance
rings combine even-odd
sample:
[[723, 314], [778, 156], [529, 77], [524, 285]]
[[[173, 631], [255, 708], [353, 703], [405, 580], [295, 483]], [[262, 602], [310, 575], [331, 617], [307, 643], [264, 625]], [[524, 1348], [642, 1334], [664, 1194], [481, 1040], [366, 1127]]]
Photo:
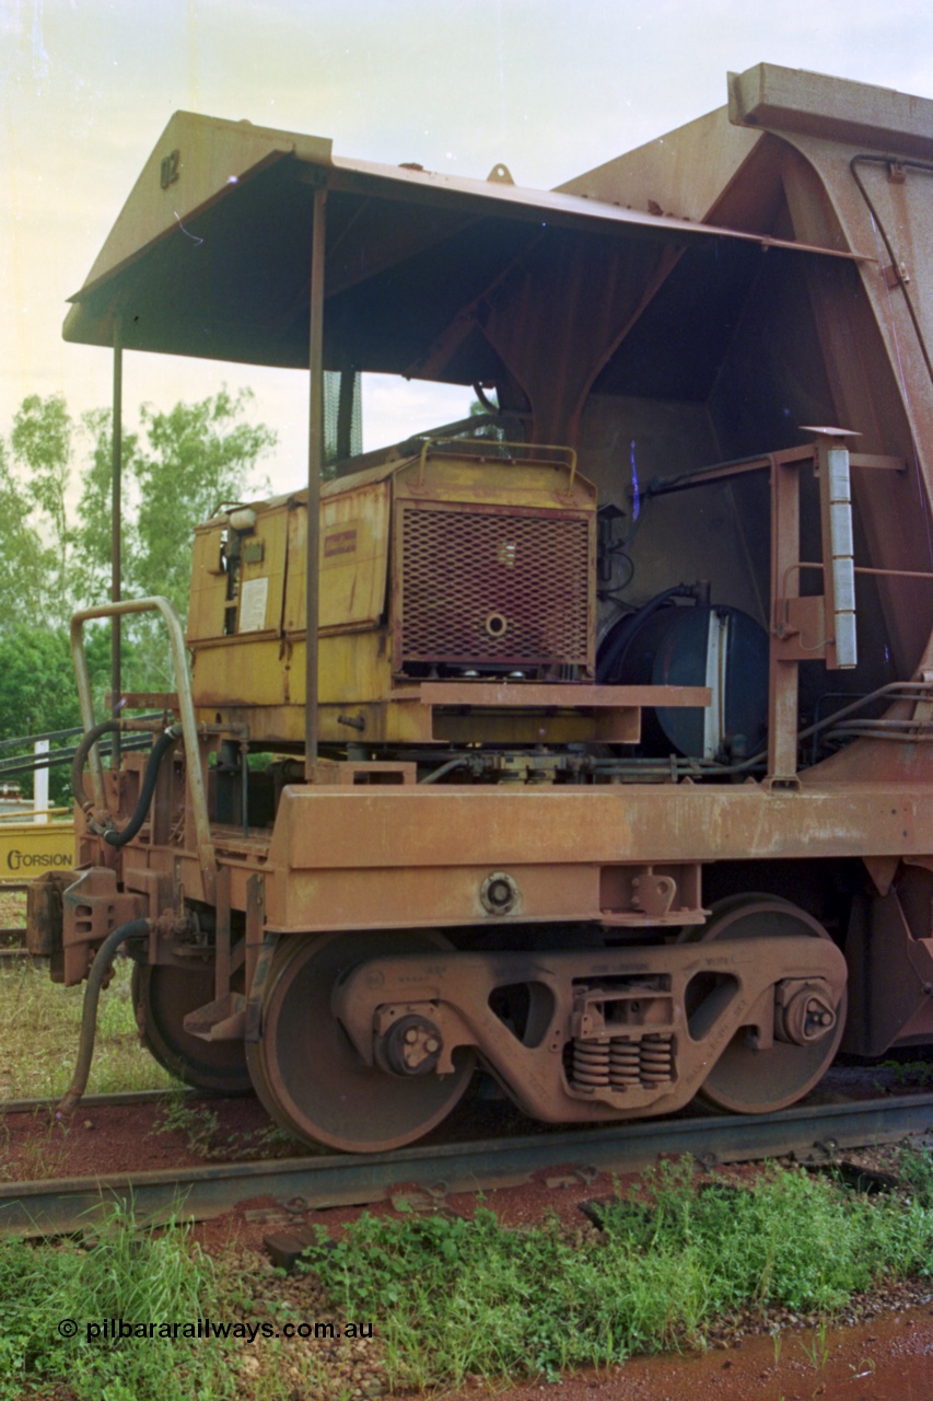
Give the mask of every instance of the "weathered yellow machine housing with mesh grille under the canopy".
[[[322, 486], [322, 743], [588, 738], [563, 688], [546, 708], [537, 692], [594, 678], [595, 511], [565, 448], [427, 443]], [[304, 741], [305, 551], [307, 492], [199, 527], [199, 720]], [[454, 679], [465, 689], [441, 703]], [[490, 682], [507, 706], [483, 705]]]

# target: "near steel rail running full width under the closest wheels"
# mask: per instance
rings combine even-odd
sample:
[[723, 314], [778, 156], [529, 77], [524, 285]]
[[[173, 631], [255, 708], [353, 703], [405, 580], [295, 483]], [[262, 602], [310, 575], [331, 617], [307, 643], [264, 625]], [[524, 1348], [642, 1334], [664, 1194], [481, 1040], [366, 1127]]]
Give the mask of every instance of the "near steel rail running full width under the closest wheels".
[[933, 1094], [811, 1104], [755, 1118], [686, 1117], [471, 1143], [419, 1145], [395, 1153], [336, 1154], [193, 1168], [4, 1182], [0, 1237], [62, 1236], [87, 1229], [106, 1202], [140, 1219], [205, 1220], [251, 1198], [272, 1196], [300, 1217], [321, 1206], [388, 1199], [401, 1184], [434, 1196], [520, 1185], [546, 1168], [633, 1173], [660, 1156], [689, 1153], [703, 1164], [793, 1156], [829, 1161], [846, 1147], [933, 1132]]

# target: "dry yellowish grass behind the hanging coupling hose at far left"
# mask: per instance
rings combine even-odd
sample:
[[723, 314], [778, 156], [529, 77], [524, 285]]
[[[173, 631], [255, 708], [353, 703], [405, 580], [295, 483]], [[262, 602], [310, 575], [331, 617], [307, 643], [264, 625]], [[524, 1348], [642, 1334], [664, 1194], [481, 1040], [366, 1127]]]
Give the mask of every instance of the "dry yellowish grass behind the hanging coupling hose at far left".
[[[0, 965], [0, 1098], [63, 1094], [74, 1072], [84, 984], [62, 988], [43, 964]], [[130, 962], [118, 958], [101, 993], [88, 1094], [158, 1090], [178, 1084], [139, 1044], [130, 1000]]]

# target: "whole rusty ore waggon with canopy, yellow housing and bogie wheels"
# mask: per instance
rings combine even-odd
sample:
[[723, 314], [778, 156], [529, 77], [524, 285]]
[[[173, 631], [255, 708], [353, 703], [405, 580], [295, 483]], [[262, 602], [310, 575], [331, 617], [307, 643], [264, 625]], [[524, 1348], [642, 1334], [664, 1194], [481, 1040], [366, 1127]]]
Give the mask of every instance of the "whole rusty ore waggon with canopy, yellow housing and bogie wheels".
[[[66, 338], [308, 368], [308, 481], [198, 530], [186, 635], [76, 618], [53, 975], [122, 944], [160, 1061], [349, 1150], [476, 1068], [762, 1112], [933, 1040], [932, 132], [762, 64], [537, 193], [172, 118]], [[488, 412], [353, 457], [360, 371]], [[174, 688], [95, 716], [84, 625], [139, 609]]]

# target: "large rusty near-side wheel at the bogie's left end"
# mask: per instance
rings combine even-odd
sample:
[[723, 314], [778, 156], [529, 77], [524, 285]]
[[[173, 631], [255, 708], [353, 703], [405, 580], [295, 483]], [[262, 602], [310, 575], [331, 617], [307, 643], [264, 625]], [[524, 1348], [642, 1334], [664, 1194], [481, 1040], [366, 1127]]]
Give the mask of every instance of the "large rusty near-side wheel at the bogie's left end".
[[454, 1073], [402, 1077], [364, 1065], [331, 1010], [335, 979], [364, 958], [447, 947], [427, 930], [290, 939], [269, 975], [263, 1034], [247, 1045], [256, 1094], [298, 1139], [349, 1153], [380, 1153], [427, 1133], [454, 1108], [475, 1056]]

